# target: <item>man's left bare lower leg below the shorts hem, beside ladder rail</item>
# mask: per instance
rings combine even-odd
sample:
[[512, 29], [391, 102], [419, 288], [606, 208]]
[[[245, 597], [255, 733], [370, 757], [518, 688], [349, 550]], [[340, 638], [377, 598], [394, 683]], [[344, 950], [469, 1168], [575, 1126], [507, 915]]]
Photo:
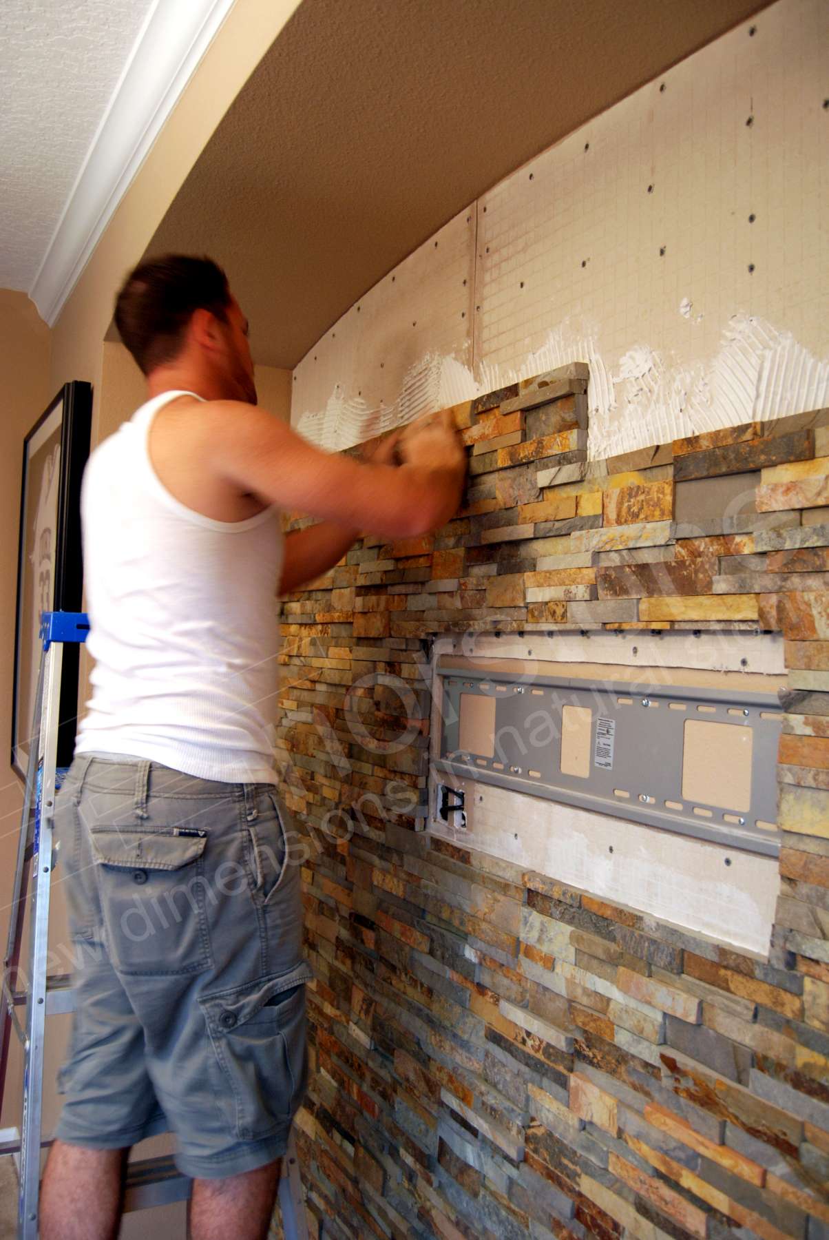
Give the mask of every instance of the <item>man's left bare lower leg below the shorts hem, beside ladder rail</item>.
[[41, 1240], [115, 1240], [125, 1156], [56, 1141], [41, 1190]]

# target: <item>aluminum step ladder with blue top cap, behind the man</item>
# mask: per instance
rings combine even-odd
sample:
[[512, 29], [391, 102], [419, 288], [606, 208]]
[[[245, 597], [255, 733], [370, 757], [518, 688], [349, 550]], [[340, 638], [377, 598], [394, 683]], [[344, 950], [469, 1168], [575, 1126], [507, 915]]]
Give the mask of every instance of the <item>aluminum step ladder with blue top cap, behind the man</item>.
[[[69, 975], [47, 977], [48, 916], [52, 872], [57, 863], [52, 830], [57, 770], [61, 673], [66, 642], [83, 642], [89, 621], [82, 611], [45, 611], [41, 618], [41, 655], [32, 737], [29, 749], [26, 792], [17, 842], [17, 864], [11, 897], [9, 939], [2, 972], [0, 1014], [0, 1105], [5, 1096], [11, 1030], [24, 1047], [24, 1106], [20, 1140], [0, 1143], [0, 1154], [19, 1156], [19, 1240], [37, 1240], [41, 1179], [43, 1040], [46, 1017], [74, 1011]], [[20, 986], [20, 956], [24, 939], [25, 901], [29, 892], [27, 986]], [[21, 1022], [19, 1008], [25, 1008]], [[191, 1180], [177, 1171], [172, 1157], [146, 1158], [128, 1163], [124, 1210], [149, 1209], [182, 1202], [190, 1197]], [[305, 1202], [296, 1142], [291, 1132], [283, 1158], [279, 1207], [285, 1240], [307, 1240]]]

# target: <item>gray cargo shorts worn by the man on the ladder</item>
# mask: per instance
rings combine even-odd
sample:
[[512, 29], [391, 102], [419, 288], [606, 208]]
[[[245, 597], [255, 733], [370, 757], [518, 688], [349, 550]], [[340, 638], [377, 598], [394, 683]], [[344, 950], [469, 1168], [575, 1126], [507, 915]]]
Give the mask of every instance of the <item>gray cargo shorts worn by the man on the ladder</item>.
[[77, 994], [56, 1136], [171, 1130], [187, 1176], [285, 1152], [307, 1084], [300, 837], [270, 784], [74, 759], [55, 812]]

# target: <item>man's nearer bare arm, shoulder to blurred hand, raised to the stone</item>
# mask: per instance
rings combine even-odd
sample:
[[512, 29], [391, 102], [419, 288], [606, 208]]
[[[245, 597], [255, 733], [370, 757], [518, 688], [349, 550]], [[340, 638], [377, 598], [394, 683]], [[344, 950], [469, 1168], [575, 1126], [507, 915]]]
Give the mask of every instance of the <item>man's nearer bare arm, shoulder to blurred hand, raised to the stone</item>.
[[204, 404], [201, 425], [217, 474], [291, 512], [400, 538], [439, 528], [460, 503], [465, 459], [449, 429], [430, 440], [428, 464], [393, 466], [325, 453], [235, 401]]

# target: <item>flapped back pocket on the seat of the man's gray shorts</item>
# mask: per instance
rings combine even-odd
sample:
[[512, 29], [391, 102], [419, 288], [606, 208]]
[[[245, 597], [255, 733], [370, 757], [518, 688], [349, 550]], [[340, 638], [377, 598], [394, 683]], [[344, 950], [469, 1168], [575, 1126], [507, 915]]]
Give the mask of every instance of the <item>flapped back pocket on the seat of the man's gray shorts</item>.
[[121, 973], [197, 973], [211, 961], [206, 832], [93, 827], [107, 946]]

